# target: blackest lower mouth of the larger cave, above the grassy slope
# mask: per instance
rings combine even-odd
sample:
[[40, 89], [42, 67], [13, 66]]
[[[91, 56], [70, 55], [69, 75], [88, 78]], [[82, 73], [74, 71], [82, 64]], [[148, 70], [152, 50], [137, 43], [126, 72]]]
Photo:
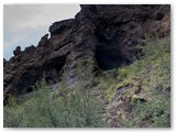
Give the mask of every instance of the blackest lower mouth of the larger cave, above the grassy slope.
[[[107, 33], [108, 34], [108, 33]], [[102, 70], [118, 68], [129, 63], [128, 57], [121, 51], [117, 37], [105, 32], [97, 32], [96, 61]]]

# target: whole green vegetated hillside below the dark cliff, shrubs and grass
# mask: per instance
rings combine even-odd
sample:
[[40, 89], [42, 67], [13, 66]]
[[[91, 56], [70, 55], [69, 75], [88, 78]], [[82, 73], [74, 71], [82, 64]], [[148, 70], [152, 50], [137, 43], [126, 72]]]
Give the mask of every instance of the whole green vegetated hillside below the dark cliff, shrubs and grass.
[[4, 127], [170, 127], [169, 46], [168, 38], [148, 40], [130, 66], [96, 78], [92, 67], [79, 70], [72, 92], [64, 82], [57, 91], [41, 82], [23, 102], [10, 99]]

